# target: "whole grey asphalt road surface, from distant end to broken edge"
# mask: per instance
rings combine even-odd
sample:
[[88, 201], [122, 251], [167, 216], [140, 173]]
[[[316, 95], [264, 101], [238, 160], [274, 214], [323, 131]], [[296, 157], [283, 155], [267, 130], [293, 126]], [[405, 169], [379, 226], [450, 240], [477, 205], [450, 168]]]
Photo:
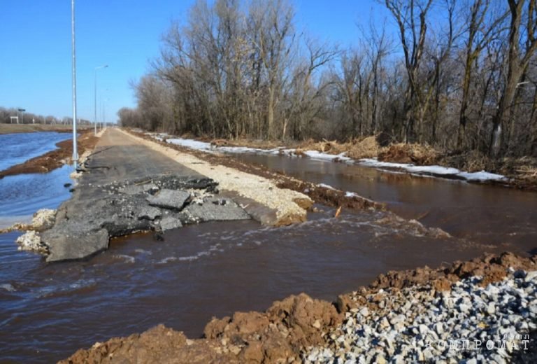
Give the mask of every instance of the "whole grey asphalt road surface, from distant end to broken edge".
[[73, 196], [59, 207], [55, 225], [41, 234], [46, 260], [81, 259], [106, 250], [110, 237], [166, 230], [206, 221], [250, 216], [213, 179], [108, 130], [92, 155]]

